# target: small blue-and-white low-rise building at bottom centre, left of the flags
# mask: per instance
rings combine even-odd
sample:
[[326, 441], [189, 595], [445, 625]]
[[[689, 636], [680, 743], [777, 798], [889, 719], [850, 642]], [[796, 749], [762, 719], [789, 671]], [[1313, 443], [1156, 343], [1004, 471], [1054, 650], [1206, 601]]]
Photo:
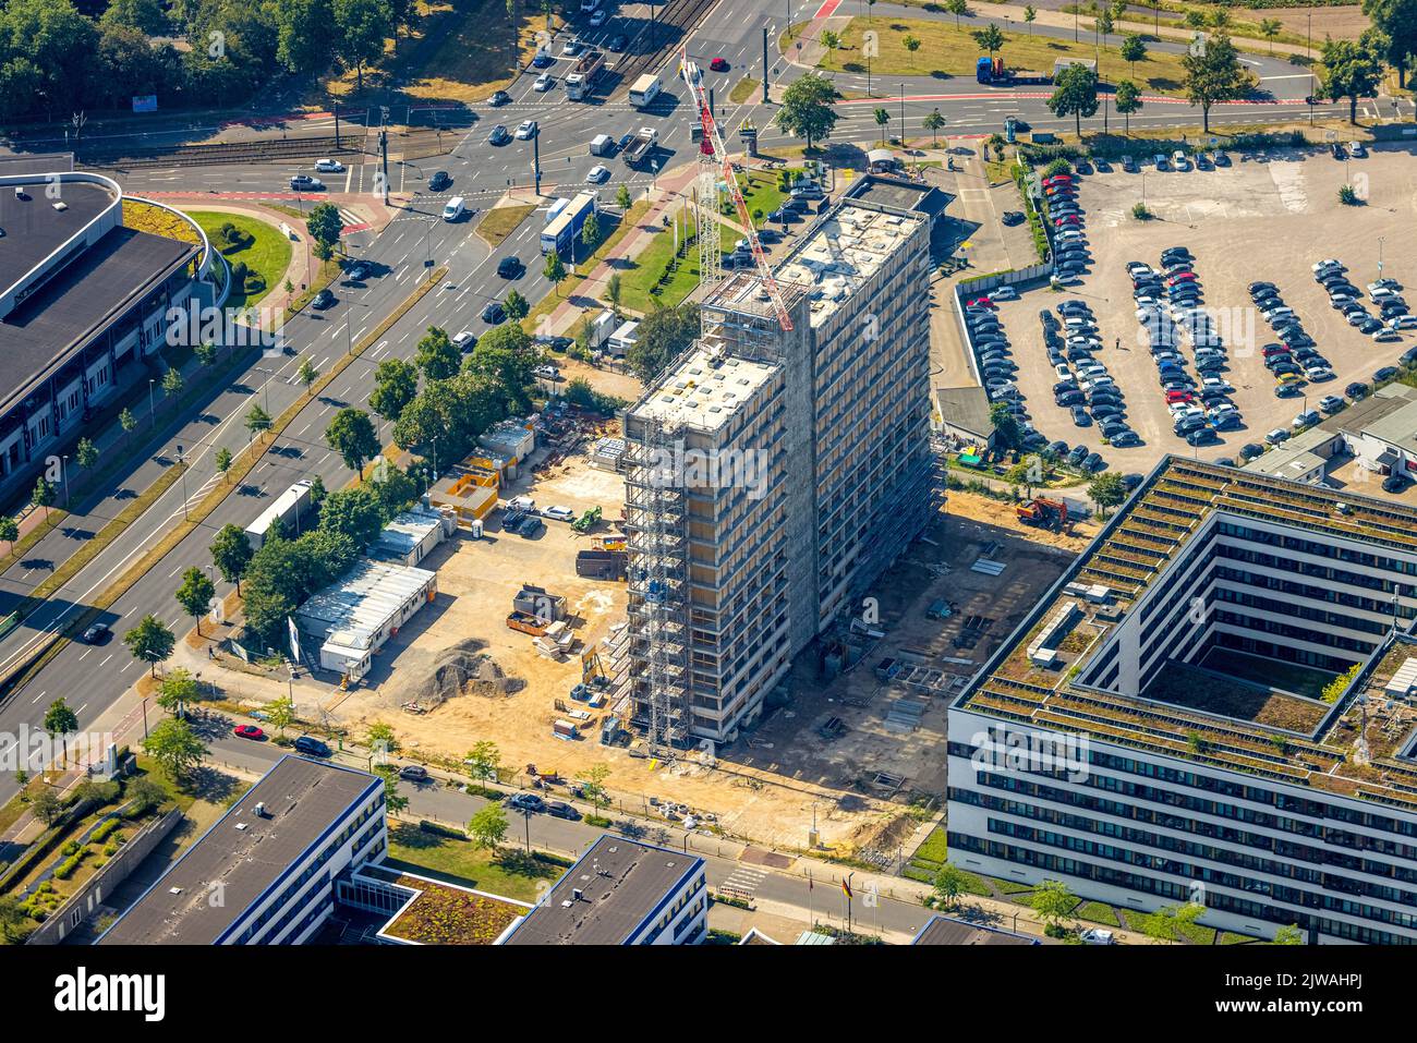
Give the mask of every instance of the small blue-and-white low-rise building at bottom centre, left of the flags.
[[696, 855], [602, 836], [506, 935], [506, 945], [693, 945], [708, 924]]

